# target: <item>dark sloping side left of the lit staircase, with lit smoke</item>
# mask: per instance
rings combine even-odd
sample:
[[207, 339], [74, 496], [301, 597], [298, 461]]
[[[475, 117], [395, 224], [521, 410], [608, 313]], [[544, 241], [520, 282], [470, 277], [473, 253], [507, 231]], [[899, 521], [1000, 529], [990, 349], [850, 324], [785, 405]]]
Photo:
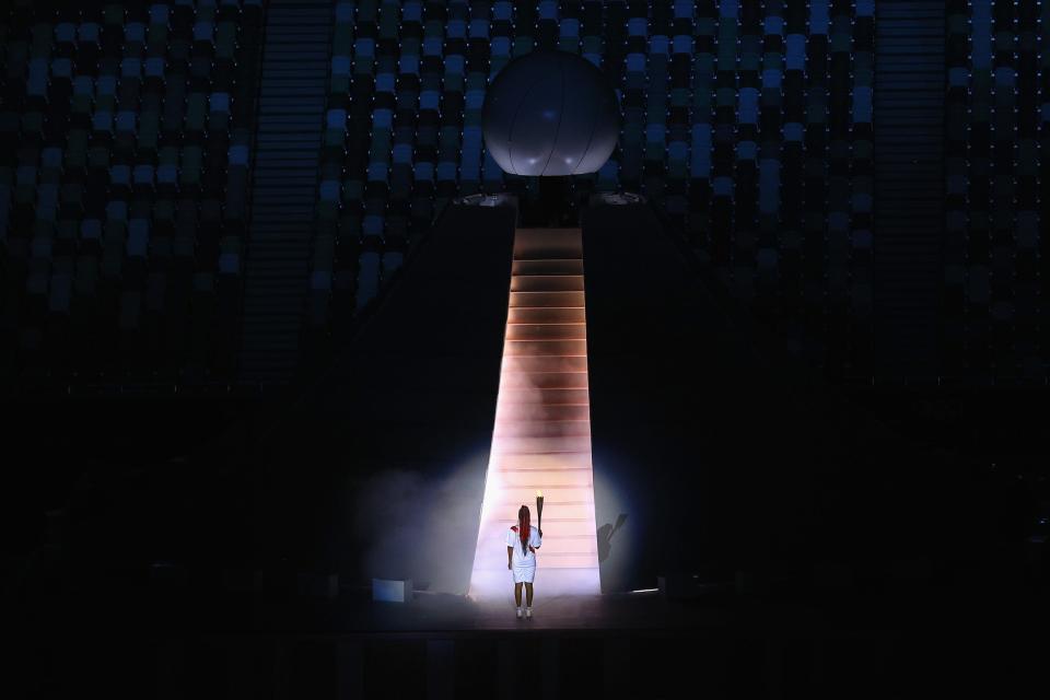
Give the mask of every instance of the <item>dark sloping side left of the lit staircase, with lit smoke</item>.
[[[276, 503], [315, 560], [465, 592], [506, 324], [515, 212], [452, 207], [292, 416]], [[303, 524], [296, 521], [308, 521]], [[305, 528], [305, 529], [303, 529]], [[462, 581], [460, 581], [462, 579]]]

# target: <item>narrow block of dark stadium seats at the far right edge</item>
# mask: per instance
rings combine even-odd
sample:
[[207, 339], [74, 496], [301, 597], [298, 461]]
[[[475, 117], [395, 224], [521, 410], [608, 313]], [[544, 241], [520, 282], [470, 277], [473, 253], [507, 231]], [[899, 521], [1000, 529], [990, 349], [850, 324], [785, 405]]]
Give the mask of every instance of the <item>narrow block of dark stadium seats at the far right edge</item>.
[[946, 362], [953, 373], [1041, 382], [1050, 5], [950, 0], [947, 9]]

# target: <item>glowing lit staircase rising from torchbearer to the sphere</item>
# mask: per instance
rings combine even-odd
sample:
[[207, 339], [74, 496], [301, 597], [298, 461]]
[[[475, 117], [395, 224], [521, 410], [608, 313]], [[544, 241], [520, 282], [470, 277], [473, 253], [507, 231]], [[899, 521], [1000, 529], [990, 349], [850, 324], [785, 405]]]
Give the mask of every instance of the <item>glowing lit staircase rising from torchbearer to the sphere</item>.
[[536, 595], [597, 595], [587, 341], [579, 229], [518, 229], [492, 451], [469, 596], [513, 596], [506, 530], [524, 503], [544, 544]]

